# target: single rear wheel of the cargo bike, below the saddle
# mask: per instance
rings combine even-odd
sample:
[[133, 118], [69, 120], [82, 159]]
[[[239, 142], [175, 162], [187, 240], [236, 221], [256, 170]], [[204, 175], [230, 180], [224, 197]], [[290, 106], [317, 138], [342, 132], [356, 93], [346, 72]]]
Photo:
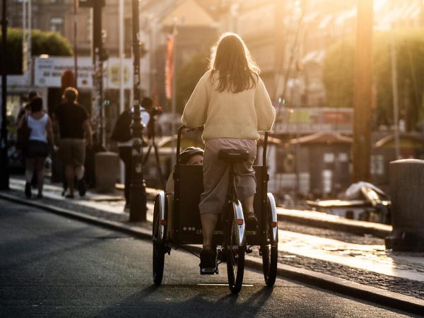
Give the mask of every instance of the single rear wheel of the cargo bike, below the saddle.
[[[232, 206], [234, 208], [234, 206]], [[235, 218], [235, 211], [231, 211], [230, 220], [227, 228], [227, 276], [228, 287], [231, 293], [237, 294], [240, 292], [245, 275], [245, 247], [240, 246], [240, 237]]]

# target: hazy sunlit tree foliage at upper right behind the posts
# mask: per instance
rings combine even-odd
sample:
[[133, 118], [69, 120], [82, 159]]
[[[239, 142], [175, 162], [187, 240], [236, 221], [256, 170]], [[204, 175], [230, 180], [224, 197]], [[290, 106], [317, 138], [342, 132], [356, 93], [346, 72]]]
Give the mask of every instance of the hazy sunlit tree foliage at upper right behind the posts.
[[[373, 34], [372, 74], [375, 124], [393, 123], [391, 41], [396, 46], [400, 118], [408, 130], [424, 118], [424, 28], [378, 31]], [[346, 37], [329, 47], [324, 59], [323, 81], [327, 105], [353, 106], [355, 39]]]

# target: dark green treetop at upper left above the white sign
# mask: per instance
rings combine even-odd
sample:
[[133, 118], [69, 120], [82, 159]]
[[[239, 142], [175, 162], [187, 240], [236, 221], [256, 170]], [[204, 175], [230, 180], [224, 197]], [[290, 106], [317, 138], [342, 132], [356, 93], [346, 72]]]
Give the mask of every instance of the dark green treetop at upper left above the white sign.
[[[59, 33], [33, 30], [31, 39], [33, 55], [70, 56], [73, 54], [69, 41]], [[6, 59], [8, 74], [22, 73], [22, 29], [8, 28]]]

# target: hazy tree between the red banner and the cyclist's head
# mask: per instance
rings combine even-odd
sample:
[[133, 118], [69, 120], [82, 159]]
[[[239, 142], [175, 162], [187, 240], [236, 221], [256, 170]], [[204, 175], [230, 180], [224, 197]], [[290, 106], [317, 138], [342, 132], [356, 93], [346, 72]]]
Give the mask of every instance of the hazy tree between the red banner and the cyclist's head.
[[197, 82], [204, 75], [208, 59], [206, 54], [194, 54], [181, 69], [177, 71], [177, 112], [182, 114], [184, 105], [192, 95]]

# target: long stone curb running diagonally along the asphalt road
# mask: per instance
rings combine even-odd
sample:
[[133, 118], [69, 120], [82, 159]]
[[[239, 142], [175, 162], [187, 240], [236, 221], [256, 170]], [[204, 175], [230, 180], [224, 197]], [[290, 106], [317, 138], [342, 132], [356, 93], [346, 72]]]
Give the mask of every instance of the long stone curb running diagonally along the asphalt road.
[[[49, 206], [47, 204], [42, 204], [40, 202], [27, 201], [11, 194], [0, 193], [0, 199], [6, 199], [8, 201], [13, 201], [25, 206], [34, 206], [44, 211], [49, 211], [61, 216], [82, 220], [86, 223], [98, 225], [103, 228], [124, 232], [128, 235], [139, 237], [143, 240], [151, 240], [151, 232], [142, 228], [135, 228], [123, 223], [88, 216], [86, 214], [71, 211], [66, 208], [58, 208]], [[191, 246], [190, 248], [197, 252], [201, 250], [200, 247]], [[245, 259], [245, 265], [251, 269], [262, 271], [262, 263], [261, 261], [257, 261], [255, 257], [247, 255]], [[336, 278], [324, 273], [310, 271], [307, 269], [300, 269], [298, 267], [285, 264], [278, 264], [277, 273], [278, 276], [283, 276], [285, 278], [292, 279], [293, 281], [314, 285], [318, 288], [331, 290], [333, 292], [348, 295], [353, 298], [375, 302], [376, 304], [384, 305], [396, 310], [402, 310], [412, 314], [423, 314], [424, 312], [424, 300], [394, 293], [388, 290], [382, 290], [381, 288], [362, 285], [352, 281], [347, 281], [342, 278]]]

